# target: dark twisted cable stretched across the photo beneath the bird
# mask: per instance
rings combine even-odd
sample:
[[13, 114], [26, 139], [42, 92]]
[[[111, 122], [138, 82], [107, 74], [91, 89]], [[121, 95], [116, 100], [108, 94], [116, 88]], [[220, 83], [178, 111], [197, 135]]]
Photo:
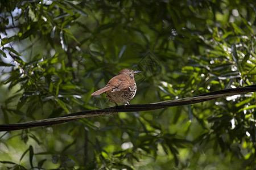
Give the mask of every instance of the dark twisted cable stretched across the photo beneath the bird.
[[102, 116], [105, 114], [113, 114], [113, 113], [118, 113], [118, 112], [151, 111], [151, 110], [162, 109], [162, 108], [167, 108], [167, 107], [176, 107], [176, 106], [180, 106], [180, 105], [201, 103], [203, 101], [208, 101], [208, 100], [216, 99], [219, 97], [246, 94], [248, 92], [255, 92], [255, 91], [256, 91], [256, 85], [252, 85], [252, 86], [246, 86], [246, 87], [241, 87], [241, 88], [230, 88], [230, 89], [225, 89], [225, 90], [220, 90], [220, 91], [209, 92], [207, 94], [203, 94], [203, 95], [199, 95], [199, 96], [195, 96], [195, 97], [188, 97], [185, 99], [160, 101], [157, 103], [150, 103], [150, 104], [131, 104], [131, 105], [126, 105], [126, 106], [119, 105], [117, 107], [110, 107], [110, 108], [105, 108], [105, 109], [97, 109], [97, 110], [71, 113], [71, 114], [67, 114], [65, 116], [61, 116], [61, 117], [28, 121], [28, 122], [22, 122], [22, 123], [18, 123], [18, 124], [0, 125], [0, 131], [11, 131], [11, 130], [33, 128], [36, 126], [56, 125], [56, 124], [62, 124], [64, 122], [68, 122], [68, 121], [72, 121], [72, 120], [77, 120], [80, 118]]

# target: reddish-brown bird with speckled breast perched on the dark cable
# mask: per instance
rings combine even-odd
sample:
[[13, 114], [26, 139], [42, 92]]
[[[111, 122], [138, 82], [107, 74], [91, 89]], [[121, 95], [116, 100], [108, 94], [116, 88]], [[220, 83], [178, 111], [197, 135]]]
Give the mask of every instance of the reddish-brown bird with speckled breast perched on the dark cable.
[[125, 102], [125, 105], [130, 104], [128, 101], [133, 99], [137, 91], [134, 80], [134, 74], [136, 73], [141, 73], [141, 71], [121, 70], [118, 75], [109, 80], [104, 88], [93, 92], [91, 96], [97, 96], [106, 92], [106, 97], [108, 97], [109, 101], [115, 103], [115, 107], [117, 107], [117, 103]]

